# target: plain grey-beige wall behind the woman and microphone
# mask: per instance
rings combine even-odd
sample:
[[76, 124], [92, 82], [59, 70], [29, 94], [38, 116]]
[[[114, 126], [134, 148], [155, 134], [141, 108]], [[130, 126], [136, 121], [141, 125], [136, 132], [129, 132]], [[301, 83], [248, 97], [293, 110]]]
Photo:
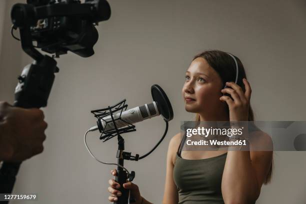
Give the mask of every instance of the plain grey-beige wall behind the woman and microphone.
[[[6, 1], [0, 20], [4, 22], [0, 99], [10, 102], [16, 75], [32, 61], [10, 36], [9, 10], [14, 2]], [[68, 53], [57, 60], [60, 72], [43, 108], [49, 124], [45, 149], [22, 163], [14, 192], [37, 193], [37, 203], [44, 204], [107, 203], [107, 180], [115, 166], [96, 162], [85, 149], [83, 133], [95, 124], [90, 110], [123, 98], [129, 107], [148, 103], [150, 86], [157, 83], [168, 94], [174, 119], [150, 156], [126, 161], [125, 166], [136, 171], [134, 182], [141, 194], [161, 203], [168, 142], [179, 131], [180, 121], [194, 118], [184, 110], [180, 96], [184, 72], [192, 56], [206, 49], [228, 51], [241, 59], [252, 87], [256, 120], [306, 120], [304, 0], [109, 3], [112, 15], [97, 27], [95, 54], [81, 58]], [[153, 118], [137, 123], [136, 129], [124, 135], [125, 149], [141, 155], [159, 140], [164, 122]], [[116, 139], [103, 143], [98, 136], [89, 133], [90, 148], [98, 158], [115, 162]], [[272, 182], [262, 187], [257, 203], [305, 203], [305, 155], [274, 152]]]

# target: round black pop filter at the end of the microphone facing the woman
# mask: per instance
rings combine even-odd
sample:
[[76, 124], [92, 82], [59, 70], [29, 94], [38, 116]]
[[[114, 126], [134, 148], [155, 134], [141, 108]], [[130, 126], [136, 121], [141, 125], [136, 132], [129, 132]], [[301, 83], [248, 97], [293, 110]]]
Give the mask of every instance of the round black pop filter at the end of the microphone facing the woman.
[[162, 88], [157, 84], [152, 85], [151, 94], [153, 101], [157, 102], [158, 110], [162, 115], [163, 119], [165, 121], [170, 121], [171, 119], [173, 119], [173, 110], [171, 103]]

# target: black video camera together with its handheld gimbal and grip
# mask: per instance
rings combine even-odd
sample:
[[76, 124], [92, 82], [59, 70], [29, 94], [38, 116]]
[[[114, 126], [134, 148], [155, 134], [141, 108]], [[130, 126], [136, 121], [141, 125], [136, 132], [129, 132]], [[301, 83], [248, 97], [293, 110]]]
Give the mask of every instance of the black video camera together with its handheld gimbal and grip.
[[[110, 17], [110, 6], [106, 0], [26, 2], [16, 3], [11, 9], [11, 35], [21, 41], [22, 49], [34, 62], [26, 65], [18, 77], [14, 106], [40, 108], [47, 105], [54, 73], [59, 71], [54, 58], [67, 51], [82, 57], [94, 54], [93, 45], [98, 39], [95, 25]], [[20, 38], [13, 33], [17, 28]], [[36, 48], [52, 56], [43, 55]], [[20, 164], [3, 162], [0, 168], [1, 193], [12, 191]]]

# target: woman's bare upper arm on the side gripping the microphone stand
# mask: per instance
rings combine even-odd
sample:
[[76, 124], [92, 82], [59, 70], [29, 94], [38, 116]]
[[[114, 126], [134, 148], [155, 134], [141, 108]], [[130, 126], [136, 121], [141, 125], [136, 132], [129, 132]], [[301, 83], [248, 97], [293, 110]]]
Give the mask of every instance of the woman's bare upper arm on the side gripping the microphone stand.
[[180, 133], [175, 134], [169, 142], [166, 159], [166, 177], [162, 199], [163, 204], [177, 204], [178, 202], [177, 188], [173, 180], [173, 167], [179, 142]]

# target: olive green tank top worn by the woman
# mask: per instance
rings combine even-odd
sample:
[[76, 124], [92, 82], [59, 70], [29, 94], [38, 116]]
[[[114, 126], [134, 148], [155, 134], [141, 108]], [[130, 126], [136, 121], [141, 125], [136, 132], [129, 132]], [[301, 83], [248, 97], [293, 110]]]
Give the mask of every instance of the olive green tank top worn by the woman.
[[[249, 131], [260, 130], [254, 124]], [[226, 153], [204, 159], [184, 159], [180, 156], [186, 135], [179, 144], [173, 167], [173, 180], [178, 190], [178, 204], [224, 203], [221, 180]]]

